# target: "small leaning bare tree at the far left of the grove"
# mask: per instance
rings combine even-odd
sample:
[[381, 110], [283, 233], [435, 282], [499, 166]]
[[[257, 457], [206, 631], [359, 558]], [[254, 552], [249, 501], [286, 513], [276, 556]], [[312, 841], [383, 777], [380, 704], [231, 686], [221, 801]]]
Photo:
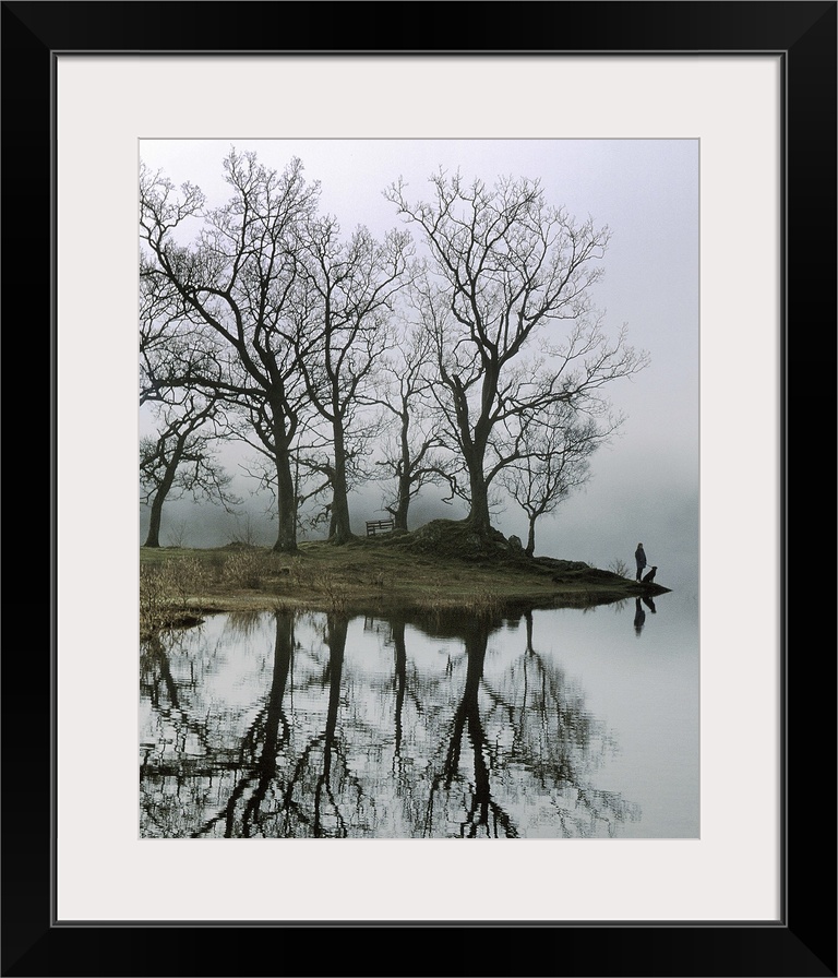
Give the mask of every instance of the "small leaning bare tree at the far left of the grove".
[[176, 405], [160, 404], [157, 434], [140, 440], [140, 480], [143, 501], [151, 505], [145, 547], [160, 546], [163, 505], [191, 494], [219, 503], [228, 512], [241, 500], [229, 490], [232, 477], [218, 462], [215, 443], [224, 437], [218, 405], [189, 392]]

